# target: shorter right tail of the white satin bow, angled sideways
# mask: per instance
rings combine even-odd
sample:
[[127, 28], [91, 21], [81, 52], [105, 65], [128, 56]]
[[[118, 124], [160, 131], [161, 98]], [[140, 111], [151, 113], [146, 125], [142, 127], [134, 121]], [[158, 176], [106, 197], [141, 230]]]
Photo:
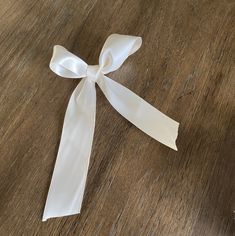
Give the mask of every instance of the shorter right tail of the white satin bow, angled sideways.
[[122, 116], [152, 138], [177, 150], [178, 122], [107, 76], [100, 79], [98, 85]]

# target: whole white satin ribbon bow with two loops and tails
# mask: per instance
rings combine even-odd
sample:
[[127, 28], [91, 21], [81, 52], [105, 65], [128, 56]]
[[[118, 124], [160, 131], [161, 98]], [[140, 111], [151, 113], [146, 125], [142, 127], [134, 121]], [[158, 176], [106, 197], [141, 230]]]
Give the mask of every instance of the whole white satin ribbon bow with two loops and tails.
[[99, 65], [89, 66], [56, 45], [50, 68], [65, 78], [83, 78], [67, 107], [43, 221], [80, 212], [95, 127], [96, 90], [99, 85], [110, 104], [143, 132], [177, 150], [179, 123], [105, 74], [117, 70], [142, 44], [140, 37], [112, 34], [106, 40]]

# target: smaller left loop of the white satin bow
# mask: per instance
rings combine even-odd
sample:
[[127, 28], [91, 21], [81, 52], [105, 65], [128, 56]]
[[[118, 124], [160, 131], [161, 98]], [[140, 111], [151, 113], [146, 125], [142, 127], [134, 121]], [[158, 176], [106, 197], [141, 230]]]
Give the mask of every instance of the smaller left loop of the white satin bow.
[[65, 78], [83, 78], [87, 74], [87, 64], [66, 48], [55, 45], [50, 69]]

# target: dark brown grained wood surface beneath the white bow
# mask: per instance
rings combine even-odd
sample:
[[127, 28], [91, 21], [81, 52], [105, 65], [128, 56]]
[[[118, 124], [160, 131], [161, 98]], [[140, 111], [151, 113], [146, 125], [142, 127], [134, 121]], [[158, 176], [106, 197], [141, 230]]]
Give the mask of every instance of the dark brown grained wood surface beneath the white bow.
[[[2, 0], [0, 17], [1, 236], [235, 235], [234, 0]], [[97, 87], [82, 212], [42, 223], [78, 83], [48, 68], [53, 45], [97, 64], [111, 33], [143, 38], [110, 77], [180, 122], [179, 151]]]

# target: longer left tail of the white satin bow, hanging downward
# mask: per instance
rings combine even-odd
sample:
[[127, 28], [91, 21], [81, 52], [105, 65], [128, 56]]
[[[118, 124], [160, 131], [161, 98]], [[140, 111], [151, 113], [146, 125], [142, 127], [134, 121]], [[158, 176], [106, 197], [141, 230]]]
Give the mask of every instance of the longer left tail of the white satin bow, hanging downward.
[[94, 134], [95, 110], [95, 84], [83, 79], [74, 90], [66, 110], [43, 221], [80, 213]]

